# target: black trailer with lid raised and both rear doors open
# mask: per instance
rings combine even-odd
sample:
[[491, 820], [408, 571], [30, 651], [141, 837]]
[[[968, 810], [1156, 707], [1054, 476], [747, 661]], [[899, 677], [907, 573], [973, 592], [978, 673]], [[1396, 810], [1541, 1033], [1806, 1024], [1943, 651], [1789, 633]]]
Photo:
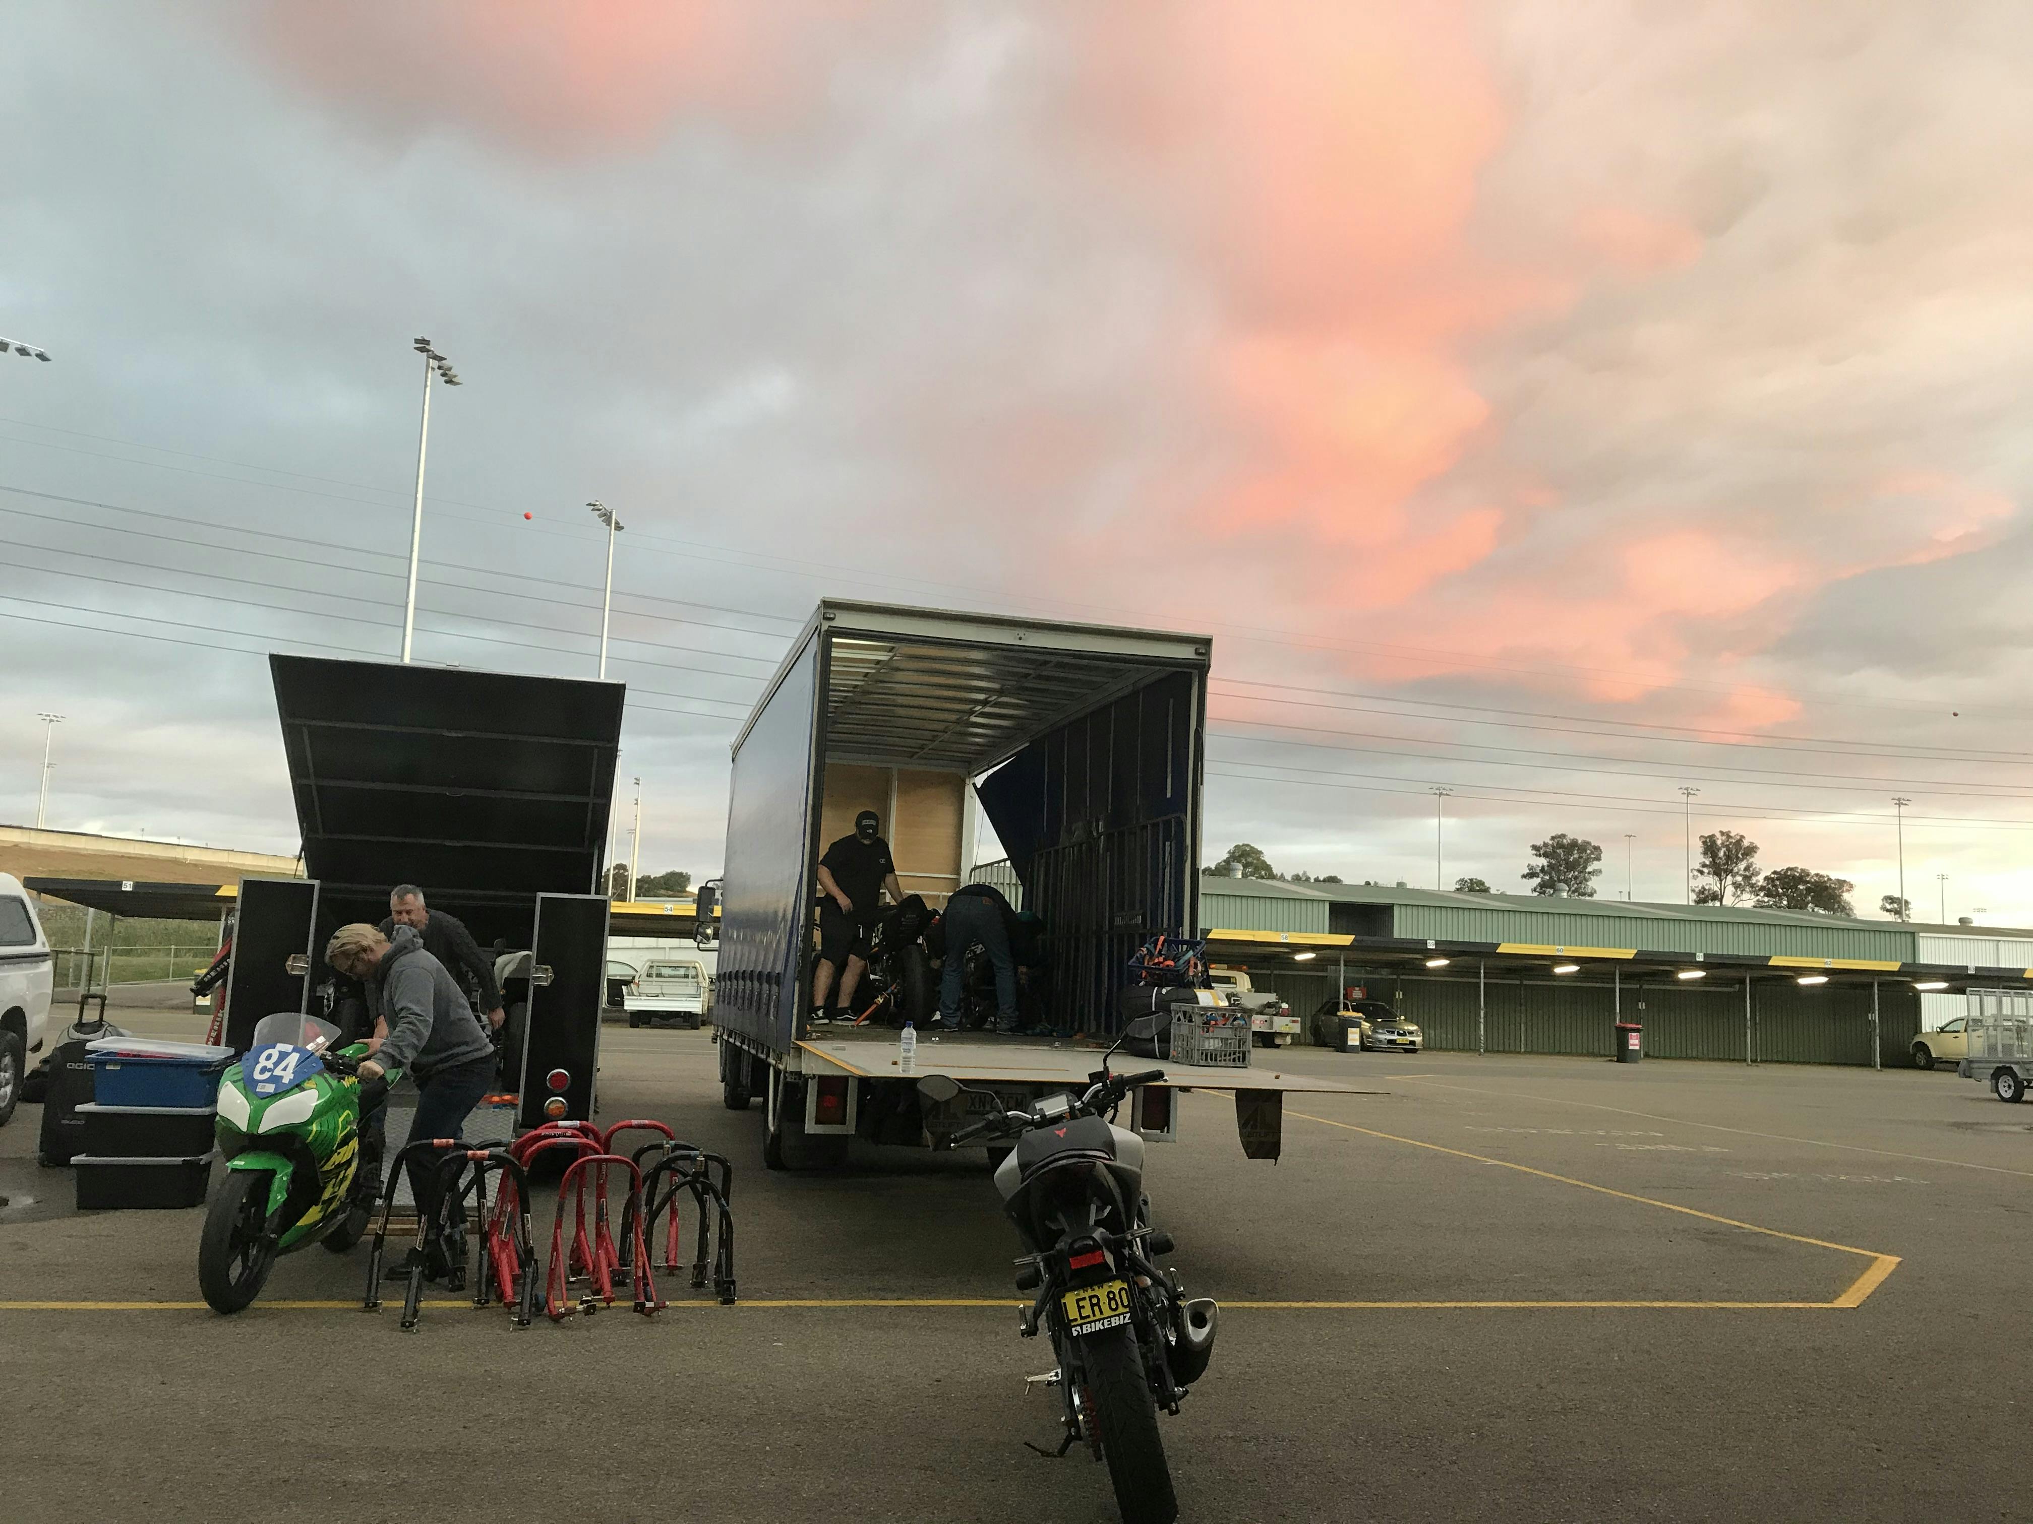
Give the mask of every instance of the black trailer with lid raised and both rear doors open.
[[626, 689], [313, 656], [268, 666], [305, 878], [240, 884], [226, 1042], [244, 1049], [270, 1010], [309, 1010], [331, 979], [331, 933], [382, 920], [388, 890], [419, 884], [482, 949], [529, 953], [502, 992], [508, 1030], [527, 1032], [508, 1071], [518, 1120], [590, 1120]]

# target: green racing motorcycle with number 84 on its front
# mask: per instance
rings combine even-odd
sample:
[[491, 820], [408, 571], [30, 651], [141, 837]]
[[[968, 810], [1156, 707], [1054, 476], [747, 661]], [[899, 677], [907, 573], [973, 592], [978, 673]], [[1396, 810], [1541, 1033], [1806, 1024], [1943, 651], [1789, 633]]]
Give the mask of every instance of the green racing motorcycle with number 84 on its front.
[[218, 1313], [260, 1296], [279, 1254], [305, 1244], [344, 1254], [368, 1229], [380, 1168], [374, 1160], [360, 1170], [360, 1118], [398, 1071], [362, 1083], [366, 1044], [333, 1051], [337, 1036], [315, 1016], [264, 1016], [246, 1057], [220, 1079], [226, 1183], [197, 1240], [197, 1288]]

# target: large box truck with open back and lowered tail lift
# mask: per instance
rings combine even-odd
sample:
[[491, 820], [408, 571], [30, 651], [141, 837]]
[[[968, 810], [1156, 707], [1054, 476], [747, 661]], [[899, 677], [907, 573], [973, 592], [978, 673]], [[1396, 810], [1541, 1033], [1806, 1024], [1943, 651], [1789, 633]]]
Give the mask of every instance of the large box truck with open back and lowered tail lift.
[[[1118, 1030], [1134, 949], [1197, 927], [1210, 650], [1191, 634], [817, 606], [734, 740], [720, 894], [722, 1091], [730, 1109], [764, 1099], [771, 1168], [836, 1166], [854, 1136], [937, 1144], [962, 1120], [921, 1114], [892, 1032], [809, 1028], [817, 860], [864, 803], [905, 888], [931, 900], [960, 886], [980, 809], [1045, 920], [1051, 1024]], [[1073, 1040], [921, 1034], [915, 1073], [1021, 1105], [1096, 1059]], [[1173, 1085], [1136, 1107], [1147, 1136], [1175, 1134], [1171, 1089], [1236, 1091], [1244, 1150], [1271, 1158], [1285, 1089], [1348, 1089], [1165, 1067]]]

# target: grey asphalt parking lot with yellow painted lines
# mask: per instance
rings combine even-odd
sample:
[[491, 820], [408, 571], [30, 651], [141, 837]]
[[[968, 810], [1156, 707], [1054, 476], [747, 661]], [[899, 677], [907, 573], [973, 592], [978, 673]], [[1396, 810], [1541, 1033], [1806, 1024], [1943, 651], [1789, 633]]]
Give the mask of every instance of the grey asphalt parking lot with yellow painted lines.
[[[1053, 1437], [1023, 1388], [1051, 1359], [978, 1164], [768, 1174], [707, 1032], [602, 1040], [604, 1120], [736, 1160], [742, 1305], [669, 1288], [655, 1321], [520, 1333], [445, 1305], [403, 1335], [291, 1307], [360, 1296], [364, 1250], [313, 1248], [220, 1319], [191, 1307], [199, 1213], [71, 1211], [22, 1107], [0, 1516], [1114, 1518], [1100, 1467], [1023, 1447]], [[1183, 1518], [2029, 1512], [2033, 1109], [1952, 1073], [1289, 1063], [1364, 1093], [1293, 1097], [1279, 1164], [1195, 1095], [1151, 1156], [1173, 1262], [1226, 1309], [1165, 1420]]]

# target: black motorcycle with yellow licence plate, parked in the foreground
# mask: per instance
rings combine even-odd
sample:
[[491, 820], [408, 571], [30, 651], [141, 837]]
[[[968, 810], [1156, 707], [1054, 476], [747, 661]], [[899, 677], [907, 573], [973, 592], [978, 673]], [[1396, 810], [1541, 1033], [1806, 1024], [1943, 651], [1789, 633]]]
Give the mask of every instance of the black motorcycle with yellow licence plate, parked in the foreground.
[[[1132, 1022], [1124, 1036], [1136, 1026], [1149, 1020]], [[1061, 1091], [1029, 1112], [994, 1109], [947, 1138], [949, 1146], [1014, 1138], [996, 1166], [996, 1191], [1029, 1250], [1016, 1260], [1016, 1288], [1037, 1292], [1019, 1323], [1027, 1339], [1043, 1327], [1059, 1361], [1031, 1382], [1059, 1388], [1057, 1455], [1086, 1443], [1108, 1461], [1126, 1524], [1171, 1524], [1179, 1516], [1157, 1410], [1179, 1412], [1214, 1355], [1218, 1321], [1212, 1298], [1187, 1300], [1177, 1274], [1157, 1266], [1173, 1242], [1151, 1225], [1145, 1144], [1110, 1122], [1132, 1089], [1163, 1079], [1163, 1069], [1112, 1075], [1104, 1055], [1077, 1099]], [[992, 1093], [945, 1075], [929, 1075], [917, 1089], [937, 1109], [962, 1093], [986, 1095], [1000, 1107]]]

